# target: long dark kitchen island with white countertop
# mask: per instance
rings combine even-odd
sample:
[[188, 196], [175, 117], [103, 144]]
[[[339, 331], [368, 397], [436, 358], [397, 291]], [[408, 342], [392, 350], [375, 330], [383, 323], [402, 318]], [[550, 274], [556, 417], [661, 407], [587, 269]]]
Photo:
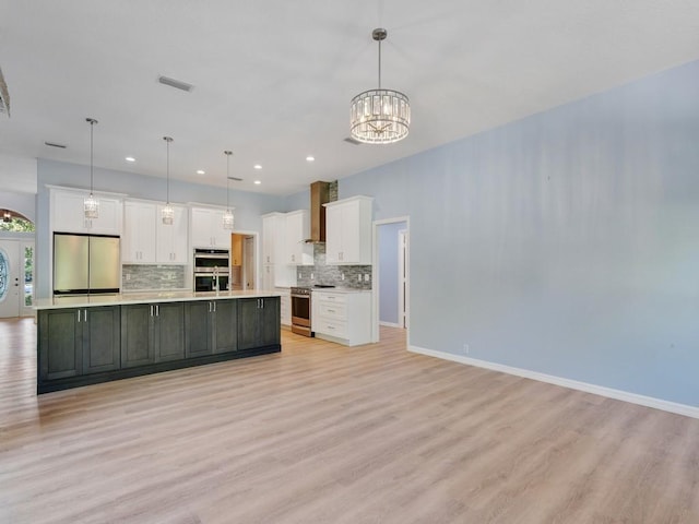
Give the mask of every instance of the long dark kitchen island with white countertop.
[[37, 393], [282, 350], [274, 291], [39, 299]]

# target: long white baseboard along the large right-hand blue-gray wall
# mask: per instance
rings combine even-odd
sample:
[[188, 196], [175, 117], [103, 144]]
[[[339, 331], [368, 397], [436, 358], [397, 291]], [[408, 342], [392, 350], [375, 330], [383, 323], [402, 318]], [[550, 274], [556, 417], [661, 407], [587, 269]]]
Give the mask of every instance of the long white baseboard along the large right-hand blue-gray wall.
[[485, 368], [493, 371], [523, 377], [525, 379], [537, 380], [540, 382], [562, 385], [564, 388], [570, 388], [571, 390], [584, 391], [585, 393], [593, 393], [595, 395], [606, 396], [617, 401], [630, 402], [631, 404], [638, 404], [645, 407], [653, 407], [655, 409], [662, 409], [663, 412], [676, 413], [677, 415], [685, 415], [691, 418], [699, 418], [699, 407], [689, 406], [687, 404], [677, 404], [675, 402], [663, 401], [652, 396], [639, 395], [621, 390], [614, 390], [612, 388], [604, 388], [602, 385], [589, 384], [588, 382], [580, 382], [577, 380], [562, 379], [553, 374], [538, 373], [536, 371], [513, 368], [502, 364], [488, 362], [487, 360], [478, 360], [476, 358], [463, 357], [461, 355], [452, 355], [451, 353], [435, 352], [433, 349], [425, 349], [424, 347], [407, 346], [407, 350], [419, 353], [420, 355], [427, 355], [429, 357], [441, 358], [443, 360], [465, 364], [467, 366], [475, 366], [477, 368]]

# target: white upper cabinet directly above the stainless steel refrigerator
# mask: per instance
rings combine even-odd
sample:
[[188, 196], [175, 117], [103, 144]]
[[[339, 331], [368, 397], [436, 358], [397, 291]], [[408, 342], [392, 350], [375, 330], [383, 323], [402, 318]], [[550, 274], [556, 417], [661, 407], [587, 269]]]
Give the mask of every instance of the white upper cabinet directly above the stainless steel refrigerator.
[[99, 201], [99, 216], [85, 218], [83, 202], [88, 194], [87, 191], [51, 189], [51, 229], [61, 233], [121, 235], [121, 199], [95, 193]]

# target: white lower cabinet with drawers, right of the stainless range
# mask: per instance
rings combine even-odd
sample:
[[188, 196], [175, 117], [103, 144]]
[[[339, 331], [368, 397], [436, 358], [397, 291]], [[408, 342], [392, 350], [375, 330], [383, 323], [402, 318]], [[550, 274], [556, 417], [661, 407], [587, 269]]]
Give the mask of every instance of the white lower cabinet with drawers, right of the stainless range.
[[311, 330], [318, 338], [357, 346], [371, 342], [371, 291], [317, 291]]

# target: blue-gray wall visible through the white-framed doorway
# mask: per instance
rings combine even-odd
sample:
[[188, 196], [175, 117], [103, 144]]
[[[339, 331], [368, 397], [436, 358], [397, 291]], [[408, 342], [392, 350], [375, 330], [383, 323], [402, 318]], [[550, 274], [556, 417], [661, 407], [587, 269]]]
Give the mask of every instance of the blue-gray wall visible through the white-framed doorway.
[[399, 231], [405, 222], [382, 224], [377, 228], [379, 261], [379, 322], [399, 323]]

